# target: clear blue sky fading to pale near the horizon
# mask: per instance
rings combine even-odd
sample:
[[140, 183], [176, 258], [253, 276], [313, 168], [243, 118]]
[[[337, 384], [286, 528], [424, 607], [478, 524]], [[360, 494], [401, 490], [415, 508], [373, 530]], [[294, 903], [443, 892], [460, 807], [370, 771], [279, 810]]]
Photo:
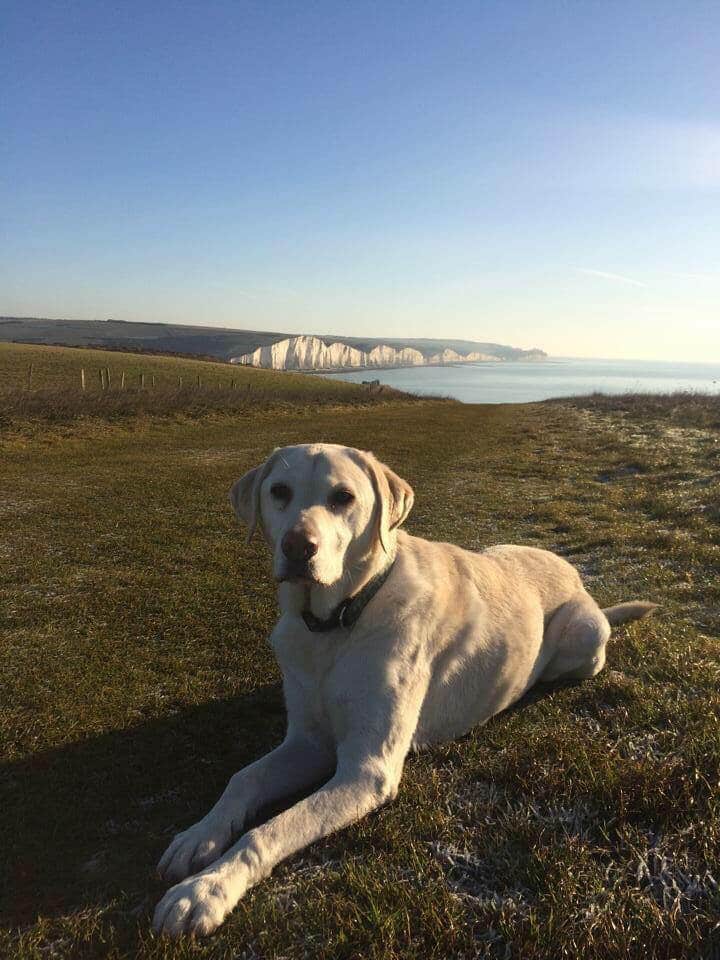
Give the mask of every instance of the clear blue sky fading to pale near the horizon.
[[6, 2], [0, 313], [720, 361], [720, 4]]

